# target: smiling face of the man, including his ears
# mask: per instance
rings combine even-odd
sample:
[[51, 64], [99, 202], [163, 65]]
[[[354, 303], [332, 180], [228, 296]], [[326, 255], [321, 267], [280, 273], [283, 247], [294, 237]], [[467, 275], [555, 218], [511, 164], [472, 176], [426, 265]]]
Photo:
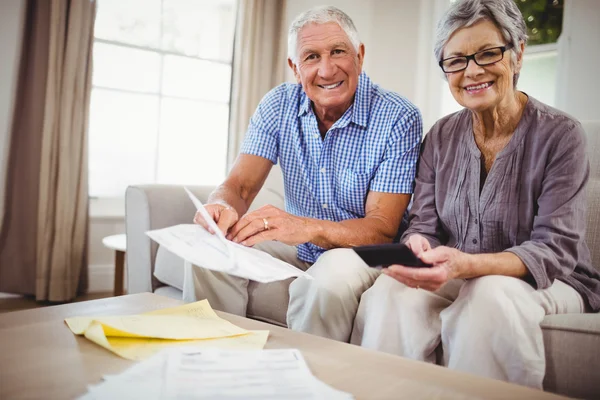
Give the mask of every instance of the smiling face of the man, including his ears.
[[358, 53], [346, 32], [335, 22], [308, 24], [298, 33], [294, 76], [312, 100], [318, 116], [341, 116], [354, 101], [362, 71], [364, 46]]

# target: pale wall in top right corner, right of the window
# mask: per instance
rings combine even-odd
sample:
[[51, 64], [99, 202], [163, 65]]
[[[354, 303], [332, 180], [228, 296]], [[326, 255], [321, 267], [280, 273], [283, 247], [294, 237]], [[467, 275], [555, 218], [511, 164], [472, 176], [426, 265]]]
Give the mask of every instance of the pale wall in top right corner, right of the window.
[[556, 105], [579, 120], [600, 120], [600, 1], [565, 0], [558, 46]]

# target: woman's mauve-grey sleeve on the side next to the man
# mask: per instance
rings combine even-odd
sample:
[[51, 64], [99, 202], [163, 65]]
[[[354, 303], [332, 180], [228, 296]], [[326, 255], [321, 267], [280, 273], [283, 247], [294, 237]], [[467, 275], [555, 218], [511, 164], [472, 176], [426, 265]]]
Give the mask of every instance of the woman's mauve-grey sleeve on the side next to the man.
[[421, 145], [415, 193], [408, 217], [409, 226], [400, 238], [401, 243], [406, 242], [408, 237], [414, 234], [427, 238], [431, 247], [437, 247], [448, 241], [435, 205], [436, 174], [433, 141], [436, 129], [437, 125], [431, 128]]

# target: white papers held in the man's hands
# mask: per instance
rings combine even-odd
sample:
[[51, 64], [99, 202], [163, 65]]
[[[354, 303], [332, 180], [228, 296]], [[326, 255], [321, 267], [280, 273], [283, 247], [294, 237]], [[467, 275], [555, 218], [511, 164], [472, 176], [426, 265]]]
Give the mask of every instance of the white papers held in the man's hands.
[[196, 266], [257, 282], [267, 283], [299, 276], [312, 279], [306, 272], [264, 251], [227, 240], [202, 202], [187, 188], [185, 191], [215, 234], [200, 225], [182, 224], [146, 232], [152, 240]]

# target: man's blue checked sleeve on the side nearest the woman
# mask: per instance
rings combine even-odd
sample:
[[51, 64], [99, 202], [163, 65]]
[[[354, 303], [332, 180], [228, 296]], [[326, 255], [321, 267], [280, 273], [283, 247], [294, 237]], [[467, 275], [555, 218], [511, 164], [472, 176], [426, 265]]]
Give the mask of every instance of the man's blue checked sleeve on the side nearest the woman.
[[421, 113], [413, 110], [392, 128], [383, 162], [377, 168], [370, 190], [385, 193], [412, 193], [419, 146], [423, 137]]

